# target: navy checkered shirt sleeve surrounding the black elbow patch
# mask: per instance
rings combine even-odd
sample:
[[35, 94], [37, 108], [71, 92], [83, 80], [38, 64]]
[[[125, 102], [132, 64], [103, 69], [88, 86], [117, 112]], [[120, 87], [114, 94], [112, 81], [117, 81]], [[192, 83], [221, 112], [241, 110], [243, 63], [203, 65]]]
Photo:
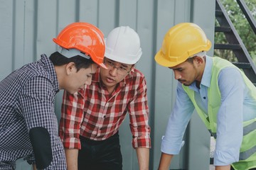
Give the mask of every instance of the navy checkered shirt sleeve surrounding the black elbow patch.
[[54, 97], [52, 84], [43, 77], [28, 81], [19, 96], [28, 129], [43, 127], [49, 132], [53, 161], [47, 169], [66, 169], [65, 153], [58, 136], [58, 121], [53, 110]]

